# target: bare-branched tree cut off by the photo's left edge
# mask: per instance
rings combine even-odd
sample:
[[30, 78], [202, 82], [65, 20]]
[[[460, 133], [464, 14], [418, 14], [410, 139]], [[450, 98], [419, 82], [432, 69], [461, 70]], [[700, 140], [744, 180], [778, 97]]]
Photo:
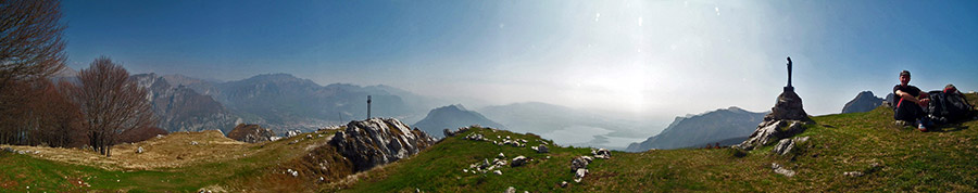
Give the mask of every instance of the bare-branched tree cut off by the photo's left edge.
[[57, 0], [0, 0], [0, 142], [24, 143], [33, 86], [64, 68]]

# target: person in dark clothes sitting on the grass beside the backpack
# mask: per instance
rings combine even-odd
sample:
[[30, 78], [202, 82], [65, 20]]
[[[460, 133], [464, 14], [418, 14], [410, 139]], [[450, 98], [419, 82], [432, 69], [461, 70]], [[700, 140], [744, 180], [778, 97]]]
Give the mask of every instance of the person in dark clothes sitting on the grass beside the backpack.
[[900, 72], [900, 85], [893, 87], [894, 101], [896, 101], [893, 118], [906, 123], [914, 123], [920, 131], [927, 131], [927, 113], [924, 108], [930, 103], [927, 92], [917, 87], [910, 86], [910, 72]]

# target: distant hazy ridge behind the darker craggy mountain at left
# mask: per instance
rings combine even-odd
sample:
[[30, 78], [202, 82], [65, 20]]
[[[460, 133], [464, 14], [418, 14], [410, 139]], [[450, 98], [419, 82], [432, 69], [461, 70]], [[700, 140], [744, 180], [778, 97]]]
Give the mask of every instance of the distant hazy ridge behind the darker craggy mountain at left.
[[367, 95], [373, 98], [372, 116], [404, 120], [418, 120], [434, 107], [431, 104], [439, 103], [389, 86], [319, 86], [312, 80], [281, 73], [225, 82], [184, 75], [165, 75], [162, 78], [176, 82], [171, 85], [210, 95], [228, 111], [243, 117], [246, 123], [260, 124], [277, 133], [296, 129], [310, 131], [366, 118]]

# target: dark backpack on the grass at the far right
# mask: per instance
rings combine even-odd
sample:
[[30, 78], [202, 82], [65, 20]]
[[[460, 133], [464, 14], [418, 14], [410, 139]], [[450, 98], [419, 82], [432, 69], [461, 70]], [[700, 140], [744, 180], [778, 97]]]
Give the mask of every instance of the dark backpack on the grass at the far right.
[[953, 87], [927, 93], [930, 94], [930, 105], [925, 111], [935, 123], [955, 123], [967, 119], [971, 115], [970, 103]]

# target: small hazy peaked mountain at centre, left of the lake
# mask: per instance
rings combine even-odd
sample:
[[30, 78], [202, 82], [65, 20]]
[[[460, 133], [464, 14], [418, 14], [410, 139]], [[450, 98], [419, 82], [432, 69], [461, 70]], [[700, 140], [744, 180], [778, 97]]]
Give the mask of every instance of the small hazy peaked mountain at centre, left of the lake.
[[462, 104], [431, 110], [424, 119], [415, 123], [412, 127], [418, 128], [431, 137], [442, 138], [444, 137], [444, 133], [442, 133], [443, 129], [455, 130], [456, 128], [472, 125], [505, 129], [502, 124], [492, 121], [478, 112], [468, 111]]

